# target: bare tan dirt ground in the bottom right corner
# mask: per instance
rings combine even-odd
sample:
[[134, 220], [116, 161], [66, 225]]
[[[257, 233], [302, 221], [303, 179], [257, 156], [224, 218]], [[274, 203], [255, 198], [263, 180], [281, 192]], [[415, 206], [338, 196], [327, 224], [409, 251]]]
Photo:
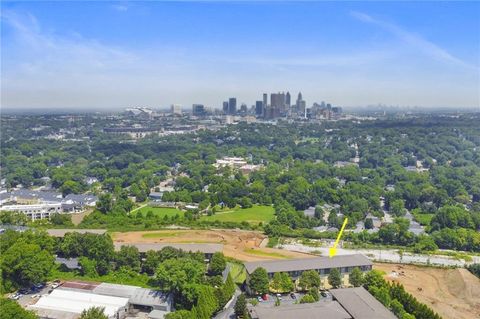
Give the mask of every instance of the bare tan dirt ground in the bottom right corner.
[[[480, 318], [480, 279], [463, 268], [442, 269], [401, 264], [374, 264], [445, 319]], [[392, 275], [395, 271], [398, 275]]]

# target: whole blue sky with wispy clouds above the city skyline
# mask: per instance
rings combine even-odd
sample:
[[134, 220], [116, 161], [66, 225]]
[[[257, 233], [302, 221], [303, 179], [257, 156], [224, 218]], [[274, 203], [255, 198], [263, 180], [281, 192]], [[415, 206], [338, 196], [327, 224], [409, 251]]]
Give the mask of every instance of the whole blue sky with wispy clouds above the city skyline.
[[2, 107], [479, 107], [478, 2], [2, 2]]

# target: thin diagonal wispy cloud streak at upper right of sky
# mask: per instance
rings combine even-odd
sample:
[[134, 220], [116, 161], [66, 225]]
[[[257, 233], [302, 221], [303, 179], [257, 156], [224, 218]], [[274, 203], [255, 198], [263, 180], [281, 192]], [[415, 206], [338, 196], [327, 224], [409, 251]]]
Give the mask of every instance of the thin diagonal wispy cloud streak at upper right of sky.
[[358, 11], [351, 11], [350, 15], [362, 22], [379, 26], [380, 28], [395, 35], [404, 43], [410, 45], [416, 50], [422, 52], [424, 55], [427, 55], [437, 61], [455, 64], [457, 66], [475, 68], [474, 66], [466, 63], [465, 61], [462, 61], [461, 59], [453, 56], [444, 48], [441, 48], [435, 43], [423, 38], [421, 35], [410, 32], [396, 24], [376, 19], [366, 13]]

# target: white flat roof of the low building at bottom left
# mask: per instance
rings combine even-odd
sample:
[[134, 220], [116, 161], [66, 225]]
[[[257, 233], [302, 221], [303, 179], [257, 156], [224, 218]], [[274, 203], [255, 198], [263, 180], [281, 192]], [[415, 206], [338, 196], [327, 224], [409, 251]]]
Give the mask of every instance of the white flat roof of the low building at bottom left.
[[37, 303], [30, 306], [30, 308], [81, 313], [83, 310], [91, 307], [104, 307], [104, 313], [112, 317], [120, 308], [126, 307], [127, 304], [128, 298], [55, 289], [49, 295], [42, 296]]

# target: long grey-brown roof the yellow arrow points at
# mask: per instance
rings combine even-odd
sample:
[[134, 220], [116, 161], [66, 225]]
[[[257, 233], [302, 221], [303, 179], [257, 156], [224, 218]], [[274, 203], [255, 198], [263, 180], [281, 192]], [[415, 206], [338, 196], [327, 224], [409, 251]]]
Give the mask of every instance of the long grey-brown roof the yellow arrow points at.
[[269, 260], [246, 262], [245, 268], [251, 274], [255, 269], [263, 267], [268, 273], [282, 271], [304, 271], [311, 269], [331, 269], [341, 267], [371, 266], [372, 262], [364, 255], [339, 255], [330, 257], [314, 257], [289, 260]]

